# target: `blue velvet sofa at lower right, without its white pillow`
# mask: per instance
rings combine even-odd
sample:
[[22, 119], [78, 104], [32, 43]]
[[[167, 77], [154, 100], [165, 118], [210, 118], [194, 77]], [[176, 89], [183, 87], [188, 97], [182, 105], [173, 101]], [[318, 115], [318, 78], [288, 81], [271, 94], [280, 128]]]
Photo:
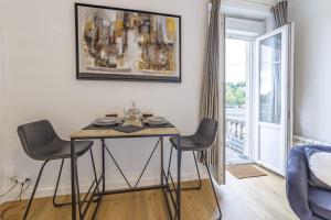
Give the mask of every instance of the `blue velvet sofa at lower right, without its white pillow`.
[[309, 185], [306, 147], [319, 146], [295, 146], [289, 153], [286, 179], [288, 201], [300, 220], [331, 220], [331, 191]]

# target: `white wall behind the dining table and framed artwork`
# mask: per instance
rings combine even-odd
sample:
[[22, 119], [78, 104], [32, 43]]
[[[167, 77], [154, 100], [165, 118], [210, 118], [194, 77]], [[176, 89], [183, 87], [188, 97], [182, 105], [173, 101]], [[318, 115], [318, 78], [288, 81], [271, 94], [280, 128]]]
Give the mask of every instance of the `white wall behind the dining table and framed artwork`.
[[[90, 0], [88, 3], [131, 8], [182, 15], [182, 84], [89, 81], [75, 78], [75, 37], [73, 0], [1, 0], [6, 55], [4, 168], [35, 179], [40, 162], [29, 158], [20, 145], [17, 127], [39, 119], [50, 119], [58, 134], [83, 128], [98, 116], [122, 112], [131, 100], [142, 110], [167, 117], [183, 133], [192, 133], [199, 121], [199, 101], [206, 33], [207, 1], [197, 0]], [[1, 106], [2, 108], [2, 106]], [[148, 158], [156, 140], [107, 142], [130, 178]], [[95, 156], [99, 164], [99, 143]], [[169, 144], [167, 143], [167, 148]], [[190, 163], [188, 163], [188, 160]], [[184, 176], [194, 173], [191, 155], [184, 157]], [[79, 163], [81, 182], [86, 185], [88, 157]], [[109, 184], [122, 180], [108, 163]], [[50, 194], [58, 163], [50, 163], [41, 191]], [[68, 164], [64, 185], [70, 186]], [[159, 160], [150, 164], [145, 179], [159, 178]]]

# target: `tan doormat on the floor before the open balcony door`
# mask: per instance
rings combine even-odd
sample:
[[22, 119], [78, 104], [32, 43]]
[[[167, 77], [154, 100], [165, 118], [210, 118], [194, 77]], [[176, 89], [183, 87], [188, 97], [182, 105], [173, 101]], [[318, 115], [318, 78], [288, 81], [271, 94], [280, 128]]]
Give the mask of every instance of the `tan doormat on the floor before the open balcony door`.
[[267, 176], [264, 172], [256, 168], [252, 164], [233, 164], [226, 165], [226, 170], [234, 175], [238, 179]]

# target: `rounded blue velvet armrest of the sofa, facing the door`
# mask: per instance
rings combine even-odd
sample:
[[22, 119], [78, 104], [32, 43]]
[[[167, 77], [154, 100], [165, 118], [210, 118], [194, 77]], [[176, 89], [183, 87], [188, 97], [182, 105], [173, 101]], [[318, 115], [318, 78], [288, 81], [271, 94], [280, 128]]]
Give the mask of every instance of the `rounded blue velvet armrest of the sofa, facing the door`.
[[310, 220], [309, 208], [309, 174], [305, 153], [307, 146], [295, 146], [290, 150], [287, 163], [286, 193], [291, 209], [300, 220]]

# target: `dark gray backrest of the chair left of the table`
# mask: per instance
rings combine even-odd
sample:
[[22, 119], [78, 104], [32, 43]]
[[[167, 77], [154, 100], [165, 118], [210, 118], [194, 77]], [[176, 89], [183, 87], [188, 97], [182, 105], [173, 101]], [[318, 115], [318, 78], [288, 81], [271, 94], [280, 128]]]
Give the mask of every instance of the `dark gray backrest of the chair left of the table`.
[[47, 120], [19, 125], [18, 134], [24, 152], [34, 160], [41, 160], [41, 155], [50, 151], [46, 146], [60, 140]]

